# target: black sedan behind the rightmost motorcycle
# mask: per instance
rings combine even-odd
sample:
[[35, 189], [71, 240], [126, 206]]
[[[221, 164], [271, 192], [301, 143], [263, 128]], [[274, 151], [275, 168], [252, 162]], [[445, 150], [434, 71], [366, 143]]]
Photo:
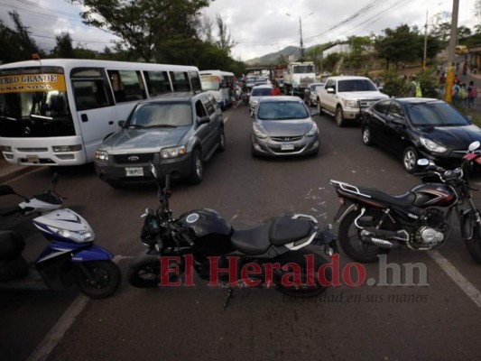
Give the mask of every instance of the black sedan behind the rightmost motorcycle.
[[402, 165], [416, 171], [419, 158], [445, 167], [458, 166], [481, 129], [448, 103], [430, 98], [380, 100], [363, 112], [363, 142], [402, 155]]

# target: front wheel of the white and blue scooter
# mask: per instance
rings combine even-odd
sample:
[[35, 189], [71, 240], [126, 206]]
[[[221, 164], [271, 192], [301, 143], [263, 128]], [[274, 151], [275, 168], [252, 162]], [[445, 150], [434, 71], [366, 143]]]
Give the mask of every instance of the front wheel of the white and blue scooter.
[[116, 292], [122, 274], [118, 266], [112, 261], [92, 261], [82, 264], [88, 269], [93, 278], [79, 271], [79, 279], [77, 286], [80, 292], [86, 294], [92, 299], [104, 299]]

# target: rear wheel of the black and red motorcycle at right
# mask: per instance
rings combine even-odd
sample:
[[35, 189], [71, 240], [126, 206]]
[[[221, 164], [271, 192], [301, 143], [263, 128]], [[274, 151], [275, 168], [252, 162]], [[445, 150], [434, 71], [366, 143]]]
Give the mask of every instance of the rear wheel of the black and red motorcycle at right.
[[[377, 262], [379, 261], [377, 256], [387, 254], [389, 249], [381, 248], [376, 245], [368, 245], [361, 240], [361, 237], [359, 236], [361, 230], [354, 224], [354, 221], [358, 216], [358, 211], [350, 212], [341, 221], [338, 233], [339, 244], [346, 255], [356, 262], [363, 264]], [[373, 216], [375, 218], [375, 215], [369, 214], [369, 210], [365, 212], [365, 216]]]

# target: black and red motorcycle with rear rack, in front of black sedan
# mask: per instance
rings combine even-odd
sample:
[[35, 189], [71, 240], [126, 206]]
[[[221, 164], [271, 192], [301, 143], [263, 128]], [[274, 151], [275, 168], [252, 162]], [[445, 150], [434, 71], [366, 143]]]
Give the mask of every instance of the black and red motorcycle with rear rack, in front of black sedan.
[[481, 217], [468, 180], [469, 172], [481, 164], [481, 153], [476, 153], [479, 146], [479, 142], [471, 143], [460, 167], [453, 170], [427, 159], [418, 161], [421, 172], [416, 175], [423, 184], [400, 196], [331, 180], [341, 200], [334, 219], [339, 222], [344, 252], [357, 262], [371, 263], [400, 245], [412, 250], [438, 249], [449, 238], [454, 210], [467, 250], [481, 264]]

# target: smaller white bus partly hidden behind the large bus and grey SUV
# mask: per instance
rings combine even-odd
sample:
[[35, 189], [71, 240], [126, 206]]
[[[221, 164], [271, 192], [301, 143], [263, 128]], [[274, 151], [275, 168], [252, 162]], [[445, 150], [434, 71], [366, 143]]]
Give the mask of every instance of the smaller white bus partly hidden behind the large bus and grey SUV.
[[200, 70], [202, 88], [216, 97], [217, 105], [224, 109], [232, 103], [229, 88], [234, 84], [234, 73], [222, 70]]

